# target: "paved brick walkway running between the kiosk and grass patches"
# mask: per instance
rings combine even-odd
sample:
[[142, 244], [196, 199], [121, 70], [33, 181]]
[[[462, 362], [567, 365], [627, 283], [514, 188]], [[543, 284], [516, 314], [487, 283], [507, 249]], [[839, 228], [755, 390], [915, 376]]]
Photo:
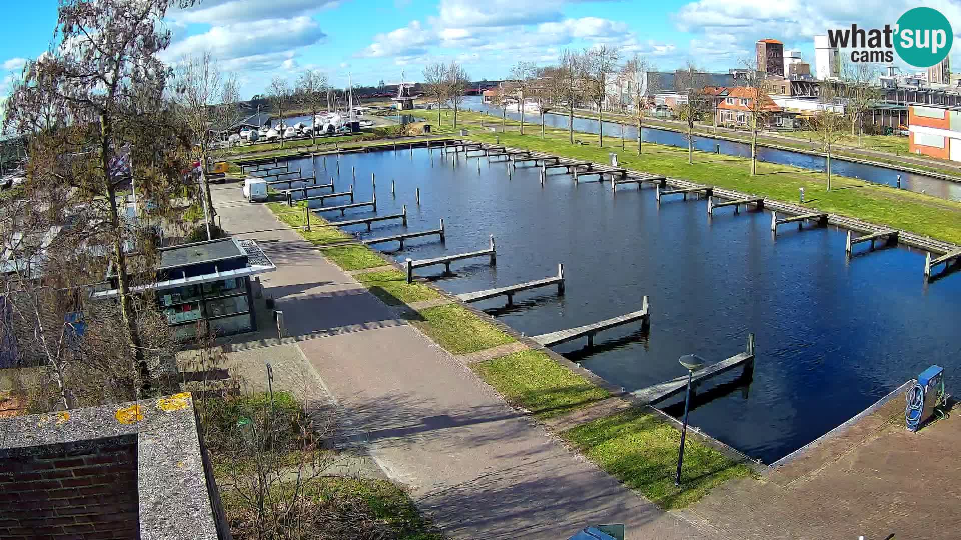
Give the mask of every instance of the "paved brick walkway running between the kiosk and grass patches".
[[[223, 227], [278, 229], [270, 210], [242, 202], [235, 185], [213, 191]], [[638, 540], [707, 537], [506, 405], [462, 360], [397, 319], [296, 232], [241, 237], [258, 240], [277, 264], [262, 279], [265, 294], [283, 309], [292, 335], [313, 337], [293, 345], [310, 371], [387, 476], [406, 483], [452, 538], [556, 540], [604, 523], [625, 523], [628, 538]], [[245, 354], [269, 358], [273, 349]]]

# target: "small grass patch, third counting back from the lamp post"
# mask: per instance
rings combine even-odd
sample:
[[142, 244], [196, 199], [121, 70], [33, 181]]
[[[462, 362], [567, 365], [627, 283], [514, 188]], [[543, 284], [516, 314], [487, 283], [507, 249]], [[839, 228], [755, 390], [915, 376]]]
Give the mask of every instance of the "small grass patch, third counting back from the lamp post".
[[423, 309], [420, 314], [427, 320], [417, 323], [417, 328], [452, 355], [477, 353], [514, 341], [474, 313], [453, 304]]

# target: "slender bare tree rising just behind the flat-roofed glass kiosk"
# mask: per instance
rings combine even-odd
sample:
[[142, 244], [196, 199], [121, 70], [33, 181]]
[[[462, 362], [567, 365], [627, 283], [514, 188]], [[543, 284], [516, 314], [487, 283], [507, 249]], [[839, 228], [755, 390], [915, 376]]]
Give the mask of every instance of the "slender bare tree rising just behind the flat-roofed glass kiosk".
[[[197, 55], [185, 55], [174, 68], [174, 103], [184, 118], [193, 137], [191, 157], [202, 165], [201, 181], [204, 184], [204, 214], [208, 223], [213, 222], [216, 210], [210, 198], [207, 182], [207, 165], [213, 143], [220, 138], [227, 126], [217, 122], [215, 108], [222, 97], [223, 80], [213, 53], [209, 50]], [[209, 238], [208, 238], [209, 239]]]

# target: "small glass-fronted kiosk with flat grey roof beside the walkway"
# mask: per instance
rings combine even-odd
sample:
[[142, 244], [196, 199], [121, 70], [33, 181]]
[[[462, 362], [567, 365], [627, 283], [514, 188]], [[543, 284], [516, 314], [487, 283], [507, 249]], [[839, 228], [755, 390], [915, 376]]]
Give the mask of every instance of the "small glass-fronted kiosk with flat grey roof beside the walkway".
[[[188, 339], [203, 321], [217, 335], [257, 331], [252, 276], [277, 267], [254, 240], [222, 238], [160, 249], [157, 281], [135, 290], [154, 290], [161, 312], [179, 338]], [[94, 299], [115, 298], [111, 288]]]

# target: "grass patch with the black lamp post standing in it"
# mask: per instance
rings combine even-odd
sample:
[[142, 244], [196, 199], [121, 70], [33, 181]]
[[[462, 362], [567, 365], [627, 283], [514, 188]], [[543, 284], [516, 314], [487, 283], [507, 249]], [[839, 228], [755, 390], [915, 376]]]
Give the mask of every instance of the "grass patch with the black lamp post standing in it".
[[681, 485], [674, 485], [680, 432], [637, 409], [561, 433], [581, 454], [661, 508], [683, 508], [729, 479], [752, 476], [748, 467], [688, 437]]

